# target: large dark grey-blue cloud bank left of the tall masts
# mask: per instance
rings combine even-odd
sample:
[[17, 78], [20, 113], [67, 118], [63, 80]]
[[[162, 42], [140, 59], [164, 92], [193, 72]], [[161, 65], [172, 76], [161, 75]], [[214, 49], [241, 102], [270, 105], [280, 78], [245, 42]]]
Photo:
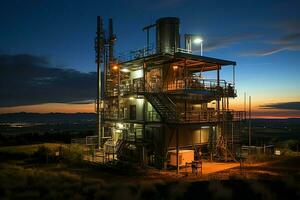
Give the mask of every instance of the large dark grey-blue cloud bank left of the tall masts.
[[96, 73], [50, 66], [45, 57], [0, 55], [0, 107], [89, 102], [96, 97]]

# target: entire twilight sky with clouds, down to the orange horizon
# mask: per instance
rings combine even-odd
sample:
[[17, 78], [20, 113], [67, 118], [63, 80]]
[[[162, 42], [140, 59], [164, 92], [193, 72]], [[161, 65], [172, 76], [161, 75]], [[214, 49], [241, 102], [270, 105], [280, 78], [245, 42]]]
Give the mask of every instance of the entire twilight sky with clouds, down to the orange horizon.
[[205, 56], [237, 62], [233, 108], [247, 92], [256, 117], [300, 117], [299, 9], [299, 0], [1, 0], [0, 113], [93, 112], [96, 16], [113, 18], [116, 54], [176, 16], [182, 35], [202, 35]]

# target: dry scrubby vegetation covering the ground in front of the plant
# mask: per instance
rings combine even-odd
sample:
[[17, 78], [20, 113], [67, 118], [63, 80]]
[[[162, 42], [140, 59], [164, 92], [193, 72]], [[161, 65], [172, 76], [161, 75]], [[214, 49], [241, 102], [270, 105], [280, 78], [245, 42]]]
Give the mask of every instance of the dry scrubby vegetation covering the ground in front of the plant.
[[[43, 148], [46, 149], [43, 150]], [[1, 158], [0, 199], [299, 199], [300, 159], [285, 157], [264, 164], [245, 165], [214, 174], [176, 175], [153, 169], [114, 168], [74, 163], [78, 147], [62, 149], [63, 156], [50, 160], [61, 145], [21, 146], [0, 149], [25, 153], [27, 158]], [[46, 150], [46, 151], [45, 151]], [[50, 150], [50, 151], [49, 151]], [[48, 164], [36, 159], [48, 152]], [[4, 153], [4, 154], [3, 154]], [[72, 164], [71, 164], [72, 163]]]

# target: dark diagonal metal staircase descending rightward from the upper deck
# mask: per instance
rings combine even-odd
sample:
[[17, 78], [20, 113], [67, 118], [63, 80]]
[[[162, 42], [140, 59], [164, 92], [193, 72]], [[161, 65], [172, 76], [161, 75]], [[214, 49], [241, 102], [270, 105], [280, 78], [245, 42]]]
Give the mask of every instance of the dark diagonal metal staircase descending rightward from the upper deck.
[[146, 92], [144, 95], [164, 122], [176, 123], [180, 121], [176, 105], [167, 94], [162, 92]]

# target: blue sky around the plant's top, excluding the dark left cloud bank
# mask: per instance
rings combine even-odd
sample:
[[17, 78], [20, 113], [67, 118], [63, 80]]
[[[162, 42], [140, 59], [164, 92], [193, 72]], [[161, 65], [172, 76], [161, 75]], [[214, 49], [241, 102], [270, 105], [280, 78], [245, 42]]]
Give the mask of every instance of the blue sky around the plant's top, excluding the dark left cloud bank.
[[247, 91], [258, 107], [297, 102], [299, 10], [298, 0], [1, 0], [0, 55], [42, 56], [47, 67], [92, 72], [97, 15], [113, 18], [116, 53], [143, 47], [145, 25], [176, 16], [181, 34], [203, 36], [204, 55], [237, 62], [240, 96]]

